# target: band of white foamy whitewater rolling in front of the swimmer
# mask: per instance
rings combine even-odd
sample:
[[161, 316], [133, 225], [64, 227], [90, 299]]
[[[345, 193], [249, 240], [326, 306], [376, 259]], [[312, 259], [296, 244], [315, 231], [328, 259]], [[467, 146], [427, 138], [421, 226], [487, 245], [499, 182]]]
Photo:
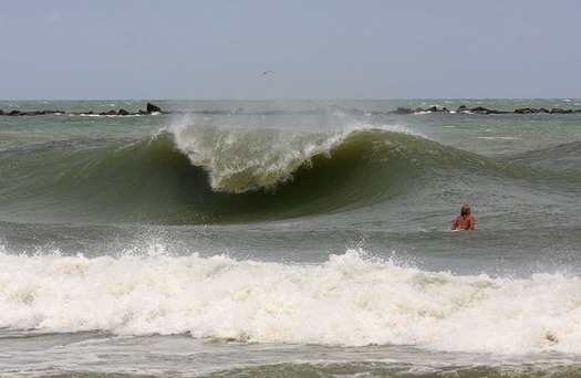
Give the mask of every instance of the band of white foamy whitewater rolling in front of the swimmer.
[[350, 250], [324, 264], [0, 253], [0, 327], [248, 343], [581, 354], [578, 277], [424, 272]]

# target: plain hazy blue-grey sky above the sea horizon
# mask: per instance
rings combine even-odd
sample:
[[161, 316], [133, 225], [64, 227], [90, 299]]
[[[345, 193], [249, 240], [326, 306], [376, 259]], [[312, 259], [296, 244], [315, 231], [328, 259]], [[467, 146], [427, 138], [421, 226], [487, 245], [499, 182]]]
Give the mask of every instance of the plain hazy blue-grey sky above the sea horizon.
[[0, 99], [581, 97], [579, 0], [0, 6]]

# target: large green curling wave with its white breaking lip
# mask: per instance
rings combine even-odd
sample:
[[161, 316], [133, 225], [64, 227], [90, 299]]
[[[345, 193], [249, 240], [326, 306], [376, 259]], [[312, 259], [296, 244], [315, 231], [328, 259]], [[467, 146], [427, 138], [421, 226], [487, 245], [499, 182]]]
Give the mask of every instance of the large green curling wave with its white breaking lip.
[[515, 168], [381, 129], [291, 134], [189, 127], [134, 140], [69, 140], [0, 157], [2, 217], [197, 224], [347, 211], [463, 175]]

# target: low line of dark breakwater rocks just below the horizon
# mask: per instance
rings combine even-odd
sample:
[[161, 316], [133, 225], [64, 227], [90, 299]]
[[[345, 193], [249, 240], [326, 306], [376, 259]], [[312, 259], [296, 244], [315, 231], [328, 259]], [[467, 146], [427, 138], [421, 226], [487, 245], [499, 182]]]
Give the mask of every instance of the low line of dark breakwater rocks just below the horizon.
[[128, 112], [126, 109], [118, 109], [118, 111], [107, 111], [107, 112], [101, 112], [95, 113], [93, 111], [89, 112], [63, 112], [63, 111], [10, 111], [8, 113], [0, 109], [0, 116], [40, 116], [40, 115], [63, 115], [63, 114], [70, 114], [70, 115], [80, 115], [80, 116], [131, 116], [131, 115], [152, 115], [152, 114], [204, 114], [204, 115], [292, 115], [292, 114], [301, 114], [301, 115], [324, 115], [324, 114], [346, 114], [346, 115], [353, 115], [353, 116], [365, 116], [365, 115], [409, 115], [409, 114], [425, 114], [425, 113], [449, 113], [449, 114], [537, 114], [537, 113], [544, 113], [544, 114], [581, 114], [581, 109], [563, 109], [560, 107], [553, 107], [551, 109], [547, 108], [531, 108], [531, 107], [521, 107], [517, 108], [512, 112], [506, 112], [506, 111], [496, 111], [496, 109], [488, 109], [483, 106], [476, 106], [473, 108], [468, 108], [466, 105], [460, 105], [456, 111], [448, 111], [445, 107], [437, 107], [432, 106], [428, 108], [416, 108], [412, 109], [409, 107], [397, 107], [394, 111], [386, 111], [386, 112], [365, 112], [356, 108], [350, 108], [345, 109], [341, 106], [334, 105], [329, 109], [307, 109], [307, 111], [253, 111], [253, 112], [245, 112], [241, 107], [235, 109], [235, 111], [224, 111], [224, 109], [203, 109], [203, 111], [162, 111], [162, 108], [155, 104], [147, 103], [146, 104], [146, 111], [139, 109], [137, 113]]

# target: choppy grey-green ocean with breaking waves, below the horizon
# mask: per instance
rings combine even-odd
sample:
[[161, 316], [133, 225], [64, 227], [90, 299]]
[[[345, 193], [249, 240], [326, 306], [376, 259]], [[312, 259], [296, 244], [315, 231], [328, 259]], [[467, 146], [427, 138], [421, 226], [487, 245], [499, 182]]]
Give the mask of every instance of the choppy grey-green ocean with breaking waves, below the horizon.
[[581, 99], [146, 103], [0, 102], [0, 376], [581, 376]]

